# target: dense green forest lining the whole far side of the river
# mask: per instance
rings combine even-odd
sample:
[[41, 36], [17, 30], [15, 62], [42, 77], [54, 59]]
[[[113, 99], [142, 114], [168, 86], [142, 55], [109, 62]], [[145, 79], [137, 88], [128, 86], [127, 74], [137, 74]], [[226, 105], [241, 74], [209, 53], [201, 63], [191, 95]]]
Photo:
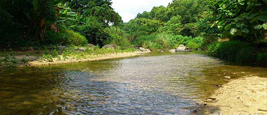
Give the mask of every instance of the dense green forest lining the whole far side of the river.
[[267, 62], [266, 0], [173, 0], [128, 23], [111, 0], [2, 0], [0, 47], [87, 46], [157, 51], [184, 44], [235, 62]]

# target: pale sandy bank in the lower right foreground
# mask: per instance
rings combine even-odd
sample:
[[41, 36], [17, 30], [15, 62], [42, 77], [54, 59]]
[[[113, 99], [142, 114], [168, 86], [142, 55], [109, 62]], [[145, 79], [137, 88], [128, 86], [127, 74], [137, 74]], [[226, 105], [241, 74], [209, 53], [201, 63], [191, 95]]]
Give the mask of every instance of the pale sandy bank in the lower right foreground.
[[192, 115], [267, 114], [267, 79], [253, 75], [234, 79], [216, 90]]

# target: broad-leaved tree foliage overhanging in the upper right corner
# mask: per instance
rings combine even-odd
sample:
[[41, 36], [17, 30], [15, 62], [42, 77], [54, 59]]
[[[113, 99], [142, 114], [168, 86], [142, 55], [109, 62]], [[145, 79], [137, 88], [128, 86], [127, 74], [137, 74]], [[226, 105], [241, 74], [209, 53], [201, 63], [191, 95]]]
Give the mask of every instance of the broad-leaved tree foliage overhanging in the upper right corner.
[[213, 0], [213, 3], [223, 38], [253, 41], [261, 31], [262, 38], [266, 38], [267, 1]]

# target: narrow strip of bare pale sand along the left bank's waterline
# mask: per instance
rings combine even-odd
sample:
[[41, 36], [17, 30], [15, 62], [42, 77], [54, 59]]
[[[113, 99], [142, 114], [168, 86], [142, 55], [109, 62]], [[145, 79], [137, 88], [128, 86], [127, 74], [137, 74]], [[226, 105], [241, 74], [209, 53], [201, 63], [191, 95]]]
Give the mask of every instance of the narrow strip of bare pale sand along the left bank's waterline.
[[[108, 60], [108, 59], [116, 59], [123, 57], [133, 57], [142, 55], [144, 53], [150, 53], [149, 51], [135, 51], [135, 52], [125, 52], [125, 53], [107, 53], [103, 55], [84, 55], [81, 59], [77, 59], [77, 57], [66, 57], [63, 58], [53, 58], [53, 62], [40, 60], [40, 57], [36, 56], [26, 56], [26, 55], [16, 55], [14, 56], [17, 60], [23, 60], [23, 58], [27, 58], [30, 60], [29, 62], [20, 62], [15, 66], [42, 66], [42, 65], [53, 65], [53, 64], [66, 64], [73, 62], [88, 62], [88, 61], [96, 61], [96, 60]], [[60, 55], [62, 57], [62, 55]]]

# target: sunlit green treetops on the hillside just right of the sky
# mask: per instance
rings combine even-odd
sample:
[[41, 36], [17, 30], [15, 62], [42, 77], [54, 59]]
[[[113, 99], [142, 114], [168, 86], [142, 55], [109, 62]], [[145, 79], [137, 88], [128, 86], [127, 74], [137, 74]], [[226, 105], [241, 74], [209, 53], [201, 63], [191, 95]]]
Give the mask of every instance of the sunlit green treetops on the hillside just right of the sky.
[[182, 36], [199, 36], [195, 35], [197, 21], [203, 17], [203, 12], [207, 11], [207, 0], [175, 0], [166, 8], [164, 6], [154, 7], [151, 12], [138, 14], [138, 18], [147, 18], [160, 21], [164, 24], [162, 31], [168, 34]]

